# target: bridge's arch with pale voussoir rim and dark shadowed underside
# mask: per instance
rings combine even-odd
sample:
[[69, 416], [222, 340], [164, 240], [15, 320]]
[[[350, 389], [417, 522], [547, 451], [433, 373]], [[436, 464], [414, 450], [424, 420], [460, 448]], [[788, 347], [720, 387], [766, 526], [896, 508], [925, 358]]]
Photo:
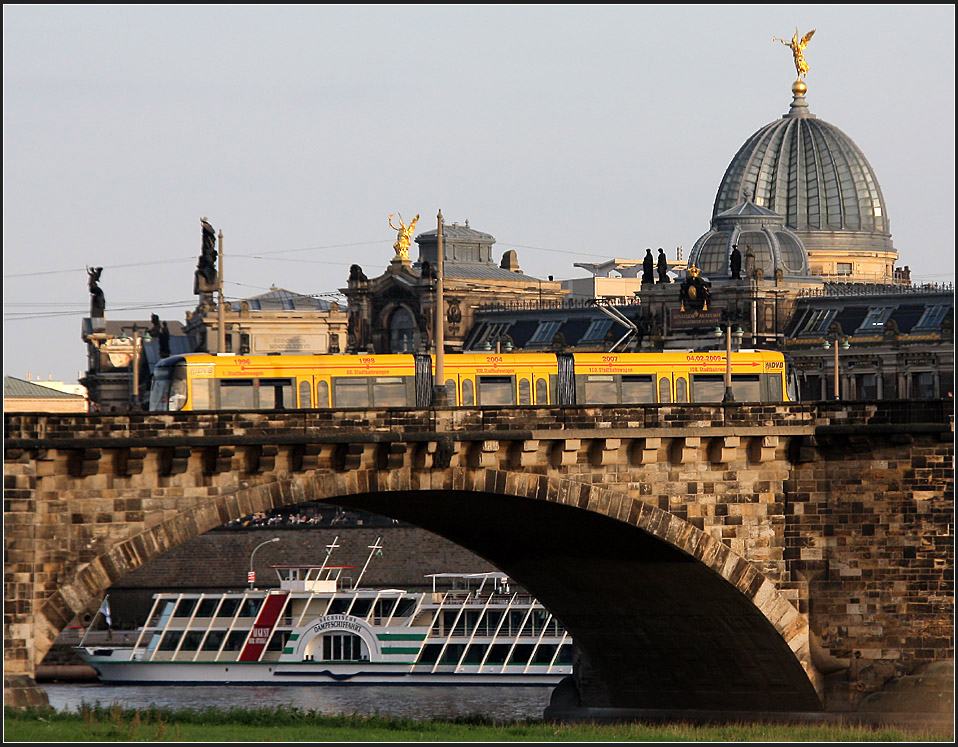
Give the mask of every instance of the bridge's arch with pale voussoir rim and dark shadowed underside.
[[[257, 511], [329, 501], [409, 521], [515, 577], [585, 653], [594, 707], [811, 710], [806, 618], [721, 540], [624, 492], [555, 475], [446, 467], [242, 475], [104, 548], [42, 605], [52, 643], [116, 580]], [[45, 651], [38, 651], [42, 658]]]

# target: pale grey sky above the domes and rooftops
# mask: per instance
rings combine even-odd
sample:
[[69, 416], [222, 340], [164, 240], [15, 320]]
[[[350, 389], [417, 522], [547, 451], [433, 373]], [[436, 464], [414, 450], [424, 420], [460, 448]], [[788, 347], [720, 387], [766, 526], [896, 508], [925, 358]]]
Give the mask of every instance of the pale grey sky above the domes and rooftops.
[[82, 375], [88, 266], [108, 319], [185, 321], [204, 217], [228, 299], [380, 275], [396, 213], [468, 220], [541, 278], [687, 258], [788, 112], [796, 27], [899, 265], [953, 283], [955, 7], [864, 7], [5, 4], [4, 375]]

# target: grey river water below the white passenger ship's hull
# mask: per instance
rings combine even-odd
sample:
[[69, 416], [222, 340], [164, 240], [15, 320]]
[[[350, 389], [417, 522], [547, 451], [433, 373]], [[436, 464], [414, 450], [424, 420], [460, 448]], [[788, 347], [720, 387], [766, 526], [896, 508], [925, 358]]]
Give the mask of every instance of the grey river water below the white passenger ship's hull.
[[495, 721], [538, 719], [552, 686], [492, 685], [41, 685], [58, 711], [85, 705], [189, 708], [270, 708], [285, 706], [328, 715], [455, 719], [483, 716]]

